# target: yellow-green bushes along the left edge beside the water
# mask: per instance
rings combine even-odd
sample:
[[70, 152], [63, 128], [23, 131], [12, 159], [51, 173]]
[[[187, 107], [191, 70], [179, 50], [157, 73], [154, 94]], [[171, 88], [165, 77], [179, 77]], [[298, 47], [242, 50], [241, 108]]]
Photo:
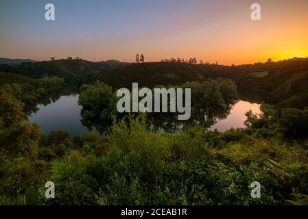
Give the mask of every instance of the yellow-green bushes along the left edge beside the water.
[[21, 196], [35, 196], [33, 186], [44, 164], [36, 160], [43, 131], [37, 124], [24, 123], [23, 103], [8, 93], [0, 94], [0, 202], [21, 203]]

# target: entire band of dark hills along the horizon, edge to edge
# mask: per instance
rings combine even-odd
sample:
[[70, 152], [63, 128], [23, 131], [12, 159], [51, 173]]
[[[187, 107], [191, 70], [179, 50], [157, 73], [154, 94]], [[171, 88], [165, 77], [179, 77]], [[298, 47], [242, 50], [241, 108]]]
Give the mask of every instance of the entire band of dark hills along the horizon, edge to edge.
[[[100, 80], [114, 88], [131, 88], [132, 82], [138, 82], [139, 87], [153, 88], [156, 85], [180, 85], [187, 81], [222, 77], [235, 81], [239, 93], [244, 96], [248, 94], [248, 99], [259, 99], [279, 107], [303, 108], [308, 105], [308, 57], [240, 66], [171, 62], [126, 63], [117, 60], [54, 60], [0, 64], [0, 72], [34, 79], [47, 75], [57, 76], [76, 85], [80, 81], [94, 83]], [[1, 75], [1, 80], [14, 81], [9, 77], [13, 75]], [[19, 81], [28, 80], [25, 77], [17, 78]]]

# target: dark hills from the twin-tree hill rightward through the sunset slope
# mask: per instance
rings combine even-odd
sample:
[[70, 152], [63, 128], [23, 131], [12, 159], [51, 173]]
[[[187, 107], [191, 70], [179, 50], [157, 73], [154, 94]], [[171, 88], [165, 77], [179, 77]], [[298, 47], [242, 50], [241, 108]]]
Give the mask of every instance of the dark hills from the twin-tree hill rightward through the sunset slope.
[[235, 81], [241, 96], [250, 101], [265, 101], [278, 107], [303, 108], [308, 105], [308, 58], [240, 66], [134, 63], [86, 74], [82, 83], [99, 80], [114, 88], [131, 88], [132, 82], [138, 82], [139, 87], [153, 88], [156, 85], [180, 85], [215, 77]]

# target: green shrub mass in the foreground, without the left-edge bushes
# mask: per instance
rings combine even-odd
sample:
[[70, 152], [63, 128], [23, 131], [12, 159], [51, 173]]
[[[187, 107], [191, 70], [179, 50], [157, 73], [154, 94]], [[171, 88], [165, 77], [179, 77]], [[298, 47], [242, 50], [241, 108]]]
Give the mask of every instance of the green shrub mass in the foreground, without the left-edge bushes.
[[[114, 123], [108, 138], [88, 138], [51, 173], [57, 205], [307, 203], [307, 150], [299, 145], [245, 130], [152, 132], [144, 116]], [[252, 181], [261, 182], [261, 198], [250, 197]]]

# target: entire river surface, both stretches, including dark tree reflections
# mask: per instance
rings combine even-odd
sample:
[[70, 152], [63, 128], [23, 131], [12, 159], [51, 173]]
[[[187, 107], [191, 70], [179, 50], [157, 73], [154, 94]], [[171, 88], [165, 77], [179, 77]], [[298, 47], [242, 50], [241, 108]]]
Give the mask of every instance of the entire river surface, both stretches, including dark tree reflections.
[[[226, 109], [215, 108], [198, 110], [191, 114], [189, 120], [178, 120], [176, 114], [149, 114], [148, 124], [154, 130], [175, 132], [182, 131], [191, 125], [200, 125], [209, 130], [226, 131], [231, 127], [244, 127], [245, 113], [252, 110], [259, 113], [259, 105], [246, 101], [229, 103]], [[39, 123], [49, 133], [54, 129], [64, 129], [77, 136], [84, 131], [97, 130], [106, 133], [111, 125], [110, 120], [86, 120], [80, 116], [82, 107], [78, 105], [78, 94], [53, 95], [32, 109], [29, 121]]]

